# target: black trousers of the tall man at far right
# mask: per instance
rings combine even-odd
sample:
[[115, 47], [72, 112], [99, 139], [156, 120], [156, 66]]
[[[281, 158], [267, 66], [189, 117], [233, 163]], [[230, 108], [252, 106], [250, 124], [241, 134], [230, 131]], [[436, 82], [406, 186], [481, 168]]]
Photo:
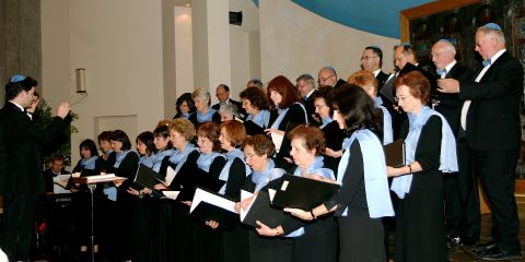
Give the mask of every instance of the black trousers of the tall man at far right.
[[491, 206], [492, 238], [500, 250], [518, 252], [520, 221], [514, 198], [518, 151], [470, 150], [470, 154]]

